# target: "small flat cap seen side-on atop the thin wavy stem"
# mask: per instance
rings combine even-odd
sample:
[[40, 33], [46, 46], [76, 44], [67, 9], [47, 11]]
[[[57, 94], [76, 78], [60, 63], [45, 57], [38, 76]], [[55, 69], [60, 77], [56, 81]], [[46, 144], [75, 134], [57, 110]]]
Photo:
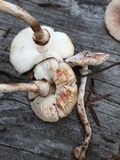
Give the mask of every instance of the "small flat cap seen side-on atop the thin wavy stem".
[[71, 66], [75, 66], [75, 65], [96, 66], [103, 63], [108, 57], [109, 57], [109, 54], [107, 53], [102, 53], [102, 52], [94, 53], [90, 51], [82, 51], [72, 57], [67, 58], [65, 61], [69, 63]]

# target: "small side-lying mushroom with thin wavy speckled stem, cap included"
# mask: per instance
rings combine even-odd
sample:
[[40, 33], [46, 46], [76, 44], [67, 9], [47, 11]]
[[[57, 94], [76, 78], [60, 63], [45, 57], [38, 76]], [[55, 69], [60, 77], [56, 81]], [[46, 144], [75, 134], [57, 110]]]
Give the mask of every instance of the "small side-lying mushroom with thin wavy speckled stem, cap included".
[[[103, 63], [109, 54], [106, 53], [92, 53], [90, 51], [82, 51], [72, 57], [67, 58], [65, 61], [70, 65], [80, 65], [82, 66], [81, 75], [85, 75], [88, 71], [88, 65], [96, 66]], [[77, 100], [77, 111], [80, 117], [80, 120], [85, 128], [85, 139], [81, 144], [75, 148], [75, 156], [79, 160], [85, 158], [87, 148], [91, 139], [91, 127], [88, 121], [85, 106], [84, 106], [84, 95], [85, 95], [85, 86], [86, 86], [87, 77], [81, 78], [81, 84], [79, 87], [78, 100]]]

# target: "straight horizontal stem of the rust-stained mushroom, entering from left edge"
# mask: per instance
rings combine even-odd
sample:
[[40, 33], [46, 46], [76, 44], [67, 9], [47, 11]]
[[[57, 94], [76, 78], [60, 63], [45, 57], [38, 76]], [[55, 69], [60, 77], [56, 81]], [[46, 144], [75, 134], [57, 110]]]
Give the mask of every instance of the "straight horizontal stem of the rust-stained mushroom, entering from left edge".
[[43, 80], [33, 81], [31, 83], [0, 84], [0, 92], [34, 92], [39, 93], [43, 97], [49, 94], [50, 89], [50, 84]]

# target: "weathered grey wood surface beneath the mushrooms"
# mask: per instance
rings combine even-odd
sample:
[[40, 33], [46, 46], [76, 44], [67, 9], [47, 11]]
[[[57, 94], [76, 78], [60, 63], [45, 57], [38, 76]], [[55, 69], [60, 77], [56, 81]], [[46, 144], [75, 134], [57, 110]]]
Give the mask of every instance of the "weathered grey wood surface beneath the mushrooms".
[[[28, 10], [41, 24], [66, 32], [76, 53], [83, 49], [109, 53], [108, 61], [94, 70], [120, 61], [120, 42], [108, 34], [104, 24], [109, 0], [56, 0], [61, 8], [41, 7], [40, 4], [47, 0], [9, 2]], [[9, 62], [11, 41], [24, 27], [22, 21], [0, 13], [0, 83], [28, 81], [27, 74], [19, 76]], [[10, 33], [4, 38], [2, 35], [9, 28]], [[93, 135], [86, 160], [101, 160], [101, 157], [117, 152], [120, 144], [120, 66], [91, 77], [99, 93], [111, 94], [94, 107], [100, 127], [87, 110]], [[91, 77], [88, 78], [86, 94]], [[34, 115], [27, 94], [22, 92], [0, 93], [0, 128], [4, 127], [6, 130], [0, 132], [0, 160], [70, 160], [84, 134], [75, 109], [67, 118], [46, 123]], [[106, 137], [110, 140], [107, 141]]]

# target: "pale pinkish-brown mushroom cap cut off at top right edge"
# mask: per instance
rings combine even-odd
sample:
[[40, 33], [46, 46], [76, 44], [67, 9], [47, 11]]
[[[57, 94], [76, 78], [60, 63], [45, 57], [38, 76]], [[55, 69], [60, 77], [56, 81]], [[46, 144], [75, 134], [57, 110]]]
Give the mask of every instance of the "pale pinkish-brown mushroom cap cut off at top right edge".
[[112, 0], [105, 11], [106, 27], [115, 39], [120, 41], [120, 0]]

